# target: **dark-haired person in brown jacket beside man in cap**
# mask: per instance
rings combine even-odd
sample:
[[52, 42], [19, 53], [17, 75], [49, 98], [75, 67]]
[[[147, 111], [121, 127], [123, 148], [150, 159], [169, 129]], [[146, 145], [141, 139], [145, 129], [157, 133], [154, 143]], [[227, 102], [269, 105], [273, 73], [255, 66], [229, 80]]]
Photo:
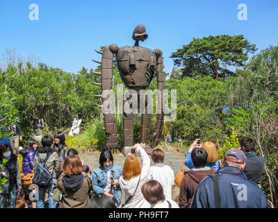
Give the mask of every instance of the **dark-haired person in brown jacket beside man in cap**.
[[191, 159], [194, 165], [183, 177], [181, 189], [179, 189], [179, 207], [190, 208], [196, 188], [206, 176], [215, 173], [211, 167], [206, 167], [208, 153], [203, 148], [194, 148]]

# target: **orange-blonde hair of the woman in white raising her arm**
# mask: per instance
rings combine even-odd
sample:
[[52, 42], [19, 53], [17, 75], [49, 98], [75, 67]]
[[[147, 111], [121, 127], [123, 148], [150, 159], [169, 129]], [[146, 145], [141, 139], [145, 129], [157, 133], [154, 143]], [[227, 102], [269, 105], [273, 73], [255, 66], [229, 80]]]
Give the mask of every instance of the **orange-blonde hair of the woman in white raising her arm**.
[[124, 168], [122, 169], [122, 176], [125, 180], [130, 180], [133, 176], [138, 176], [141, 173], [140, 163], [135, 155], [126, 157]]

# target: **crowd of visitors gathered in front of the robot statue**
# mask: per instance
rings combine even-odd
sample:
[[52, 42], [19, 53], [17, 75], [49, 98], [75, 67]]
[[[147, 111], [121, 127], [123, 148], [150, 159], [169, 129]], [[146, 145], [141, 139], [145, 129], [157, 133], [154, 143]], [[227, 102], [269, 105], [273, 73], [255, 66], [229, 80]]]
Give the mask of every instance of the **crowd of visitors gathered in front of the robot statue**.
[[[79, 133], [80, 123], [76, 114], [70, 135]], [[34, 121], [34, 129], [43, 127], [43, 119]], [[154, 148], [150, 158], [145, 144], [135, 144], [123, 167], [104, 149], [99, 167], [91, 171], [78, 151], [67, 147], [63, 132], [53, 138], [36, 131], [19, 151], [22, 169], [13, 144], [3, 139], [0, 145], [0, 208], [15, 208], [17, 196], [24, 196], [28, 208], [268, 207], [261, 191], [264, 159], [256, 155], [249, 137], [241, 138], [240, 148], [227, 151], [224, 160], [219, 160], [215, 142], [200, 144], [196, 139], [185, 155], [178, 203], [172, 200], [174, 171], [164, 164], [161, 148]]]

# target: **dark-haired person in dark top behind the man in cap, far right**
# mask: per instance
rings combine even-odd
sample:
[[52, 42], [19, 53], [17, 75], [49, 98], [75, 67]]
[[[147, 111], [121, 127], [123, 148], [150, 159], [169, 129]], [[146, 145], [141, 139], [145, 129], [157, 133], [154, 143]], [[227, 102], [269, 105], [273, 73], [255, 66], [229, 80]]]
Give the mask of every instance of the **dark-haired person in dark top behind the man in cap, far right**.
[[255, 142], [250, 137], [242, 137], [239, 141], [240, 150], [246, 155], [246, 166], [243, 170], [249, 180], [255, 182], [261, 187], [261, 174], [265, 159], [261, 155], [255, 153]]

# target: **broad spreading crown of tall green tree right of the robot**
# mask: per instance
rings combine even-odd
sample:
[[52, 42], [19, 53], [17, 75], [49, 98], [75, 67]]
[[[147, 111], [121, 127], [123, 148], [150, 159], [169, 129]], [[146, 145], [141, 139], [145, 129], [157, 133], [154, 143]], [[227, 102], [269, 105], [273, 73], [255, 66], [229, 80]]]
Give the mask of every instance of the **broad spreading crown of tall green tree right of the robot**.
[[227, 66], [243, 67], [248, 53], [254, 53], [256, 46], [250, 44], [243, 35], [216, 35], [195, 39], [182, 49], [172, 53], [174, 65], [183, 67], [182, 76], [220, 77], [234, 75]]

